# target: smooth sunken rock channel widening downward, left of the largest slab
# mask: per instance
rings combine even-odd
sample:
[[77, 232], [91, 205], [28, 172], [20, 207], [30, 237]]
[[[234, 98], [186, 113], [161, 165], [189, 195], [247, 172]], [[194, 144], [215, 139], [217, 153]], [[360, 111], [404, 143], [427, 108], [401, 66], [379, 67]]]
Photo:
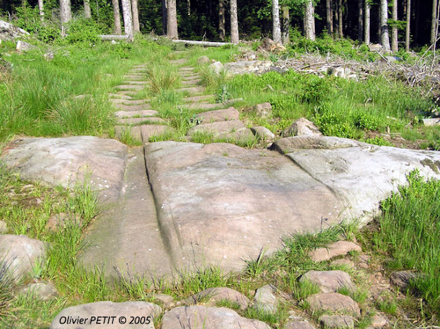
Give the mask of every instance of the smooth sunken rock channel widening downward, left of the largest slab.
[[86, 240], [89, 247], [83, 253], [83, 262], [91, 269], [104, 267], [108, 276], [118, 278], [115, 269], [126, 277], [148, 278], [172, 271], [157, 223], [142, 146], [129, 150], [118, 205], [91, 225]]

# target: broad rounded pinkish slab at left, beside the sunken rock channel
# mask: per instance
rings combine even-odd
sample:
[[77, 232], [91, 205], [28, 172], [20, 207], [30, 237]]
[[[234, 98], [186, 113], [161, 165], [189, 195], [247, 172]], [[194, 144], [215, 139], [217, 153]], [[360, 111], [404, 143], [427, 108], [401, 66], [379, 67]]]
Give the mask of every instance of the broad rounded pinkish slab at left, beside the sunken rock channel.
[[52, 186], [73, 186], [90, 177], [102, 200], [111, 200], [122, 187], [126, 150], [119, 141], [90, 136], [21, 138], [3, 150], [1, 160], [21, 178]]

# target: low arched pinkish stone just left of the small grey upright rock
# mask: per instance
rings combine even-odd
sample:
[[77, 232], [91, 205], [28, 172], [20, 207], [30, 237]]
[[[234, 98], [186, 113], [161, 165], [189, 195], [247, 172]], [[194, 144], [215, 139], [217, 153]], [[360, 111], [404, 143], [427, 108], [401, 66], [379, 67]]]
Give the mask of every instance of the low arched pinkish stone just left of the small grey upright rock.
[[241, 310], [245, 310], [249, 305], [249, 298], [231, 288], [219, 287], [208, 288], [200, 293], [196, 293], [181, 301], [183, 305], [194, 305], [203, 303], [206, 306], [216, 306], [221, 301], [228, 301], [232, 304], [240, 306]]

